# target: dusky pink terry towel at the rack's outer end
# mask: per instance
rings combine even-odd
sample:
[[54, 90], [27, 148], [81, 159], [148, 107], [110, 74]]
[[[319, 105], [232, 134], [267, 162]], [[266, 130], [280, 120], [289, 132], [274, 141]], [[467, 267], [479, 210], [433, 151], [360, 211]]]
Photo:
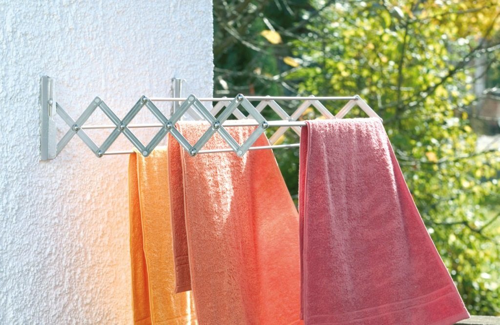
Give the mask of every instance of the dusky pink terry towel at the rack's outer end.
[[308, 121], [299, 174], [305, 324], [469, 317], [379, 119]]

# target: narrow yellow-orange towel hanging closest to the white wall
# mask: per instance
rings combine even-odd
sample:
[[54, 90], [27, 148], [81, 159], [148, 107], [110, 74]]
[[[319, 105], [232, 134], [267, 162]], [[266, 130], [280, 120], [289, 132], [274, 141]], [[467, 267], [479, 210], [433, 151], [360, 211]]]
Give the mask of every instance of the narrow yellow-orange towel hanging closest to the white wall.
[[131, 154], [130, 257], [135, 324], [196, 324], [189, 292], [174, 293], [167, 150]]

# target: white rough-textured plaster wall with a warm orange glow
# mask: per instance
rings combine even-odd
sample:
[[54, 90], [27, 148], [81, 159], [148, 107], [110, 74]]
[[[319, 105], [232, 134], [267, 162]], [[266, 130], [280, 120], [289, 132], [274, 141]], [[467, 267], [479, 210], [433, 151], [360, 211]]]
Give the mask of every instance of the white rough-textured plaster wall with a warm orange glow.
[[39, 79], [73, 118], [96, 95], [122, 118], [142, 94], [170, 95], [174, 75], [210, 96], [211, 17], [209, 0], [0, 0], [0, 324], [132, 322], [128, 157], [74, 137], [40, 162]]

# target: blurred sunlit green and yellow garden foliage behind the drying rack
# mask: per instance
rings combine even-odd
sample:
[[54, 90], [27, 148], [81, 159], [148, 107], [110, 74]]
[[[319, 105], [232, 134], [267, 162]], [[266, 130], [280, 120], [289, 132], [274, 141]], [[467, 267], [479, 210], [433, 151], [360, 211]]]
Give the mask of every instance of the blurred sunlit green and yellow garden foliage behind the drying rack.
[[[498, 0], [213, 6], [215, 96], [359, 94], [383, 118], [467, 309], [500, 315]], [[289, 114], [298, 105], [280, 104]], [[324, 104], [335, 113], [344, 103]], [[347, 117], [356, 116], [353, 109]], [[317, 117], [310, 108], [301, 119]], [[298, 138], [288, 131], [279, 141]], [[296, 198], [298, 150], [274, 152]]]

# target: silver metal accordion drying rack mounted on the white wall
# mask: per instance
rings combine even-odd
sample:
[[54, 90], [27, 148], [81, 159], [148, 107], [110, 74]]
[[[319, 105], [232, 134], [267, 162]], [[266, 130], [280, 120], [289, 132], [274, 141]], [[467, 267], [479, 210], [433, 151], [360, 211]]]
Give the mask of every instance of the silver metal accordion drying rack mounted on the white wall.
[[[40, 151], [41, 160], [48, 160], [55, 158], [64, 146], [77, 135], [97, 157], [103, 155], [114, 154], [128, 154], [132, 151], [107, 151], [116, 138], [123, 134], [142, 155], [147, 156], [158, 145], [158, 143], [170, 133], [175, 140], [184, 148], [191, 156], [201, 153], [213, 152], [235, 152], [238, 156], [242, 156], [248, 150], [259, 149], [273, 149], [273, 148], [291, 148], [297, 147], [296, 144], [282, 144], [274, 145], [278, 138], [288, 129], [292, 128], [298, 135], [300, 135], [300, 127], [305, 126], [305, 122], [297, 121], [302, 113], [310, 106], [315, 107], [325, 118], [342, 118], [354, 106], [358, 106], [370, 117], [380, 118], [366, 102], [358, 95], [345, 96], [345, 97], [281, 97], [281, 96], [243, 96], [238, 94], [234, 98], [218, 97], [218, 98], [196, 98], [194, 95], [188, 95], [186, 98], [181, 97], [182, 79], [172, 79], [172, 88], [174, 97], [160, 97], [160, 98], [147, 98], [141, 96], [139, 100], [132, 106], [126, 113], [123, 119], [119, 119], [116, 114], [106, 105], [106, 103], [99, 97], [95, 97], [83, 113], [74, 120], [66, 111], [56, 102], [54, 93], [54, 80], [50, 77], [43, 76], [41, 78], [41, 138], [40, 138]], [[297, 109], [288, 115], [276, 101], [289, 101], [298, 100], [303, 101]], [[345, 106], [333, 115], [321, 101], [340, 100], [347, 101]], [[168, 101], [173, 102], [172, 110], [170, 111], [170, 118], [167, 118], [161, 111], [154, 105], [153, 102]], [[201, 102], [209, 101], [216, 102], [211, 109], [207, 109]], [[251, 102], [258, 102], [253, 105]], [[270, 107], [276, 114], [282, 118], [277, 121], [267, 121], [260, 112], [266, 106]], [[139, 112], [142, 107], [146, 107], [159, 121], [158, 124], [129, 124], [134, 116]], [[110, 119], [113, 124], [110, 125], [84, 125], [85, 121], [90, 117], [93, 111], [100, 108], [102, 112]], [[242, 112], [244, 110], [247, 114]], [[217, 115], [220, 112], [219, 115]], [[69, 126], [69, 130], [64, 136], [57, 141], [56, 139], [56, 126], [54, 117], [58, 115]], [[182, 134], [175, 128], [177, 123], [183, 116], [189, 115], [193, 119], [206, 120], [209, 127], [206, 132], [191, 145]], [[239, 120], [253, 119], [254, 121], [242, 122], [228, 120], [233, 115]], [[215, 117], [217, 116], [217, 117]], [[243, 144], [239, 145], [227, 132], [225, 127], [231, 126], [255, 126], [253, 133], [246, 139]], [[144, 145], [132, 133], [132, 128], [147, 128], [147, 127], [160, 127], [161, 129], [151, 139], [151, 141]], [[252, 144], [268, 127], [279, 127], [270, 137], [268, 146], [253, 146]], [[97, 146], [85, 133], [85, 129], [113, 129], [111, 134]], [[229, 148], [202, 150], [203, 145], [214, 134], [218, 133]]]

